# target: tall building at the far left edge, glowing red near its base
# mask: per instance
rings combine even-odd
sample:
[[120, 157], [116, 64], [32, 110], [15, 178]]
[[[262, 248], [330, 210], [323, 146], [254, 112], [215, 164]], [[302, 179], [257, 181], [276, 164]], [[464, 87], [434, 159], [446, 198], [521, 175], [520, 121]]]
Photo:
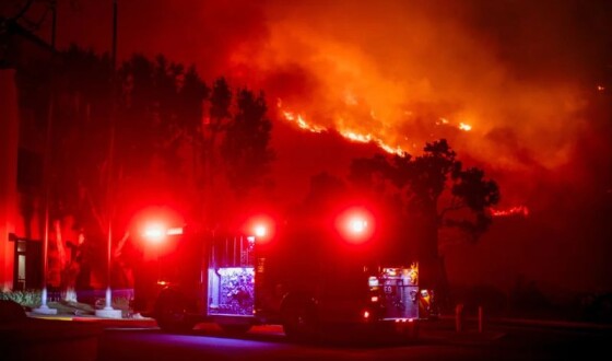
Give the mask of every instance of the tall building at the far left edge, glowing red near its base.
[[[0, 18], [0, 289], [42, 286], [44, 154], [48, 109], [34, 107], [16, 82], [50, 65], [52, 47]], [[44, 94], [42, 94], [44, 95]]]

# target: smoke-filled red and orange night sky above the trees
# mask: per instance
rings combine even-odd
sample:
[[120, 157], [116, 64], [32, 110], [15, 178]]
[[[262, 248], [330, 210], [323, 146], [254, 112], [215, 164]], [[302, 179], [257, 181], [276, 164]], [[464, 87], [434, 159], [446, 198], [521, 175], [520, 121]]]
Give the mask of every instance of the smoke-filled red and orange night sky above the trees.
[[[58, 2], [58, 47], [110, 49], [113, 1]], [[282, 112], [412, 154], [447, 138], [498, 182], [501, 208], [530, 210], [496, 219], [478, 245], [445, 247], [451, 280], [611, 291], [612, 3], [331, 2], [119, 0], [118, 58], [164, 54], [209, 83], [263, 90], [287, 202], [372, 147]]]

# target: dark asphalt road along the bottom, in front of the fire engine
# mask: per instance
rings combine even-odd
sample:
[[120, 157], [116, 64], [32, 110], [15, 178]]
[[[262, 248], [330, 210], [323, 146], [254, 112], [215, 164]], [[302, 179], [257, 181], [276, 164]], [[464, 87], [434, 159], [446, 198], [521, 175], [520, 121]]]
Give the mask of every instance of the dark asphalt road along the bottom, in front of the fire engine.
[[[427, 328], [429, 327], [429, 328]], [[214, 325], [183, 335], [158, 329], [108, 328], [99, 360], [612, 360], [610, 329], [497, 325], [485, 336], [427, 326], [417, 340], [360, 340], [336, 337], [295, 343], [280, 327], [255, 327], [231, 337]], [[339, 335], [336, 335], [339, 336]]]

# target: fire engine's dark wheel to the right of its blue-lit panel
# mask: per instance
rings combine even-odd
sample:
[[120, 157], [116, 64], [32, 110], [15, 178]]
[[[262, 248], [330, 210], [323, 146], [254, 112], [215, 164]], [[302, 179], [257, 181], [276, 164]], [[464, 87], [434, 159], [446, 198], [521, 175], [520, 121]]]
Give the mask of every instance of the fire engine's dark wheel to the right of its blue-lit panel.
[[317, 336], [317, 312], [310, 301], [294, 300], [285, 304], [282, 311], [285, 335], [298, 341], [310, 341]]

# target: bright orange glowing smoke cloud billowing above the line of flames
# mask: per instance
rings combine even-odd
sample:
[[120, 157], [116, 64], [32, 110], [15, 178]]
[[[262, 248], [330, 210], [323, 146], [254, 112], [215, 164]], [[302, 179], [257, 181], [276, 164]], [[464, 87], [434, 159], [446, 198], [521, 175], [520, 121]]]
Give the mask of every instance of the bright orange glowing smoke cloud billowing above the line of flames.
[[[566, 162], [574, 135], [585, 127], [579, 84], [509, 63], [503, 44], [491, 38], [501, 34], [476, 34], [472, 22], [482, 19], [466, 19], [476, 16], [473, 9], [445, 4], [458, 13], [419, 2], [289, 7], [272, 1], [269, 39], [233, 59], [254, 68], [249, 74], [258, 74], [262, 88], [291, 112], [354, 140], [419, 152], [425, 141], [444, 137], [504, 167], [534, 162], [549, 168]], [[541, 26], [550, 28], [542, 32], [552, 32], [562, 20], [548, 19]], [[513, 25], [520, 31], [533, 24]], [[542, 69], [569, 66], [558, 53], [534, 55], [545, 56]]]

